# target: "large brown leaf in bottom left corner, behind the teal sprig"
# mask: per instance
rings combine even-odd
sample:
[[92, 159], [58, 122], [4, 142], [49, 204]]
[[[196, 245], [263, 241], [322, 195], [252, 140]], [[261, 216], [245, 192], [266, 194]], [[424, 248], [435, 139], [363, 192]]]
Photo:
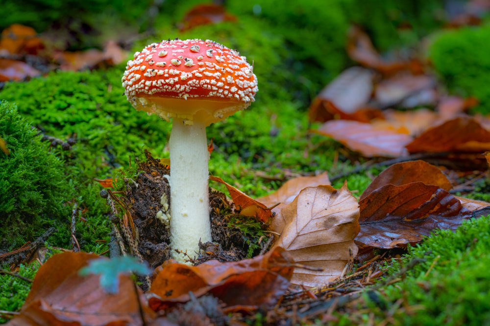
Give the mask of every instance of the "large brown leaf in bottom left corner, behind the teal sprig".
[[119, 294], [110, 295], [99, 286], [99, 276], [78, 275], [80, 268], [96, 258], [71, 252], [50, 258], [39, 268], [21, 314], [7, 325], [142, 325], [137, 295], [146, 320], [154, 318], [155, 313], [145, 304], [143, 294], [136, 294], [128, 276], [120, 276]]

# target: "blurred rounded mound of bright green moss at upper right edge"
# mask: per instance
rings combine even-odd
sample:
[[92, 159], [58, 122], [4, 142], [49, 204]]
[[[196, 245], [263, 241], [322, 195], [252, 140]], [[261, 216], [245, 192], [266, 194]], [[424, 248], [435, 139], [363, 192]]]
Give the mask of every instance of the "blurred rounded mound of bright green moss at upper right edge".
[[430, 47], [430, 59], [449, 90], [475, 96], [474, 111], [490, 112], [490, 25], [442, 33]]

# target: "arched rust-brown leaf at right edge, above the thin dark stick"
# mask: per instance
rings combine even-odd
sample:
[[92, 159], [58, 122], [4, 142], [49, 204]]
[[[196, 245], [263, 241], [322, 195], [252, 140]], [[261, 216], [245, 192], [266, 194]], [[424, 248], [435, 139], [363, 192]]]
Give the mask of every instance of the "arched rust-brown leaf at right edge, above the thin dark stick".
[[471, 117], [458, 117], [430, 128], [407, 146], [416, 152], [483, 152], [490, 148], [490, 132]]

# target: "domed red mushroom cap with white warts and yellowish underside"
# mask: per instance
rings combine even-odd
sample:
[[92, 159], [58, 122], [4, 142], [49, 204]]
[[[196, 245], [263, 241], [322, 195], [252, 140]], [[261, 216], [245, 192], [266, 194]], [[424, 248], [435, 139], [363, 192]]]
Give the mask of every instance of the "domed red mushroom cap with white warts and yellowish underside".
[[245, 57], [206, 40], [148, 45], [127, 63], [123, 87], [137, 110], [189, 124], [223, 120], [255, 101], [257, 77]]

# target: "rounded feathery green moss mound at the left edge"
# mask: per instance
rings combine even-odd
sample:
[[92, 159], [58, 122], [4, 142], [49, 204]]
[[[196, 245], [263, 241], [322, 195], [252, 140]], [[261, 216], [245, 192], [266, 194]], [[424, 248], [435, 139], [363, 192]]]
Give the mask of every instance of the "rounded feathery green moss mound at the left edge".
[[0, 246], [33, 240], [70, 212], [63, 162], [42, 143], [15, 106], [0, 103], [0, 137], [10, 155], [0, 153]]

